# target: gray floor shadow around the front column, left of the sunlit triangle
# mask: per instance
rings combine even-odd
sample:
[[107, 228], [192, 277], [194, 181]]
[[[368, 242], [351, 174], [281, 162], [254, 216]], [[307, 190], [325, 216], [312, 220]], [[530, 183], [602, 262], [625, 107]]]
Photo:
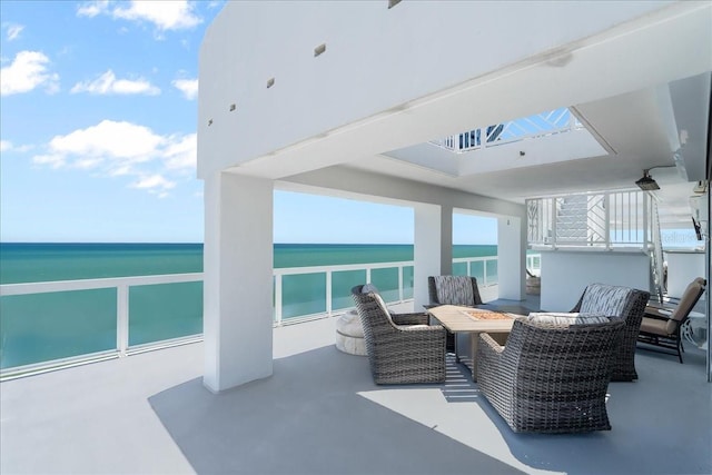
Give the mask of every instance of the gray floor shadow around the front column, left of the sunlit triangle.
[[359, 396], [380, 388], [366, 358], [324, 347], [274, 373], [219, 395], [192, 379], [149, 402], [199, 474], [521, 473]]

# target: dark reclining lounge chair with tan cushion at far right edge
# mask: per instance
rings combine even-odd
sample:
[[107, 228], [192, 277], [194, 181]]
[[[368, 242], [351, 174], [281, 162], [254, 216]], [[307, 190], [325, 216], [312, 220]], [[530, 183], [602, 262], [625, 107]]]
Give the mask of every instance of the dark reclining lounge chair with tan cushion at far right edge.
[[[680, 358], [680, 363], [682, 363], [684, 348], [682, 347], [680, 330], [682, 325], [690, 317], [692, 308], [695, 306], [702, 294], [704, 294], [706, 283], [708, 281], [702, 277], [698, 277], [691, 281], [682, 294], [678, 307], [675, 307], [670, 315], [661, 313], [661, 309], [659, 308], [647, 306], [645, 308], [645, 315], [643, 315], [637, 340], [647, 345], [673, 349], [675, 350], [678, 358]], [[642, 346], [640, 348], [654, 350], [654, 348]]]

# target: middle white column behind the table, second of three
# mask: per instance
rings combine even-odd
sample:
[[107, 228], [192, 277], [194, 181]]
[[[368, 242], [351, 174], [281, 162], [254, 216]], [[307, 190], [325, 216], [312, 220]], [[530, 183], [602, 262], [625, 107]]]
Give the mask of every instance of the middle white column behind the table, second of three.
[[453, 271], [453, 208], [437, 205], [416, 205], [413, 271], [414, 308], [429, 303], [428, 276]]

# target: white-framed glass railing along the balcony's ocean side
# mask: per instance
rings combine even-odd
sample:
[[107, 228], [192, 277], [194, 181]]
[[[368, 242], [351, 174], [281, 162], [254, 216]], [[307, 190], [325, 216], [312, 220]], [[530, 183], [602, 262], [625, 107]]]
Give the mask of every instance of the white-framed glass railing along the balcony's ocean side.
[[[413, 261], [274, 269], [274, 324], [353, 308], [366, 281], [388, 304], [413, 298]], [[538, 256], [527, 255], [527, 268]], [[453, 274], [497, 283], [496, 257], [453, 259]], [[0, 377], [190, 342], [202, 331], [201, 273], [0, 285]]]

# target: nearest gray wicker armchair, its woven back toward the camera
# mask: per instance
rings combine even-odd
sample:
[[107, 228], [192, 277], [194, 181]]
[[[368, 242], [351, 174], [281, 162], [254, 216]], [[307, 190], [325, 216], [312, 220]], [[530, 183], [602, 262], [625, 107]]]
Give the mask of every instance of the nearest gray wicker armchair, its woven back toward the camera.
[[481, 334], [477, 386], [514, 432], [610, 431], [605, 396], [624, 325], [525, 317], [514, 321], [506, 346]]

